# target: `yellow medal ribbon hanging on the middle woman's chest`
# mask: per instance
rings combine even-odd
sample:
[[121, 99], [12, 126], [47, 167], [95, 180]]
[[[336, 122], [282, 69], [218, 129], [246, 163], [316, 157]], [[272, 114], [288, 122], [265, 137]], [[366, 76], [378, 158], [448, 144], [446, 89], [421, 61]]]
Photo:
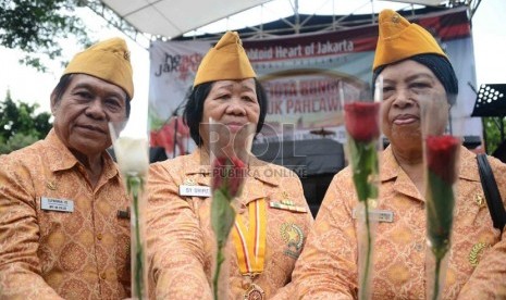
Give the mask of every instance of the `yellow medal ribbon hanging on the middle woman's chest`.
[[243, 275], [257, 275], [263, 272], [267, 242], [267, 204], [266, 199], [248, 203], [249, 229], [237, 214], [232, 229], [237, 261]]

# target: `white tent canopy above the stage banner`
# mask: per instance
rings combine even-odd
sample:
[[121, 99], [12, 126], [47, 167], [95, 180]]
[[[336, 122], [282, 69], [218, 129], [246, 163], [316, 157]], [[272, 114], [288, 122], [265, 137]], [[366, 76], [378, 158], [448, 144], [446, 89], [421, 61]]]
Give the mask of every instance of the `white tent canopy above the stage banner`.
[[[86, 1], [88, 7], [97, 4], [97, 0], [83, 1]], [[385, 8], [402, 10], [448, 2], [462, 3], [460, 0], [234, 0], [226, 2], [223, 0], [100, 0], [99, 2], [133, 26], [136, 34], [166, 39], [184, 34], [197, 36], [256, 26], [298, 13], [370, 14]], [[95, 11], [99, 10], [95, 8]], [[113, 25], [119, 27], [118, 24]], [[304, 24], [294, 24], [294, 26], [304, 26]]]

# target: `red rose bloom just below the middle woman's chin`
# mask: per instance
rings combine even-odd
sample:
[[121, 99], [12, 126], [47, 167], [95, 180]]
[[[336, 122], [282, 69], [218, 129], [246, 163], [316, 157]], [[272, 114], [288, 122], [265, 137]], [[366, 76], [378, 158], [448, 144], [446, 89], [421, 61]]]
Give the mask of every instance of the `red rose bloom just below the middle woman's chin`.
[[235, 198], [240, 191], [246, 173], [246, 165], [240, 159], [217, 158], [212, 164], [212, 189], [222, 189], [231, 198]]

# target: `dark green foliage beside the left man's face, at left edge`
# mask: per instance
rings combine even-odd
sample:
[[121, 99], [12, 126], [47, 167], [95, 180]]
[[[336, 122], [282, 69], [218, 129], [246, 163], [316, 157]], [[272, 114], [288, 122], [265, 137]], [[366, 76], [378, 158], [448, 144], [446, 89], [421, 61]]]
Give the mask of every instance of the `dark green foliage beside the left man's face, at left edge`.
[[13, 101], [10, 92], [0, 102], [0, 153], [9, 153], [42, 139], [52, 127], [48, 112], [37, 113], [38, 104]]

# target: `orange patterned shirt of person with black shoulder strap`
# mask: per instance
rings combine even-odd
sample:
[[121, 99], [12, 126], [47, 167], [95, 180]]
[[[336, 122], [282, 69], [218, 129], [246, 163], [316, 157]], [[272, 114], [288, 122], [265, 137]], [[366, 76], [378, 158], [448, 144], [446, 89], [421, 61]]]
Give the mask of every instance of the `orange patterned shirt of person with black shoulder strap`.
[[[503, 196], [506, 166], [490, 159]], [[373, 299], [425, 299], [424, 200], [387, 148], [381, 163], [378, 210], [393, 212], [374, 243]], [[504, 198], [504, 197], [503, 197]], [[304, 299], [357, 297], [357, 222], [350, 170], [332, 180], [294, 271], [296, 296]], [[493, 228], [473, 153], [462, 147], [451, 250], [443, 299], [505, 299], [506, 239]], [[477, 260], [474, 260], [477, 258]], [[476, 263], [478, 262], [478, 266]], [[502, 296], [497, 296], [502, 295]]]

